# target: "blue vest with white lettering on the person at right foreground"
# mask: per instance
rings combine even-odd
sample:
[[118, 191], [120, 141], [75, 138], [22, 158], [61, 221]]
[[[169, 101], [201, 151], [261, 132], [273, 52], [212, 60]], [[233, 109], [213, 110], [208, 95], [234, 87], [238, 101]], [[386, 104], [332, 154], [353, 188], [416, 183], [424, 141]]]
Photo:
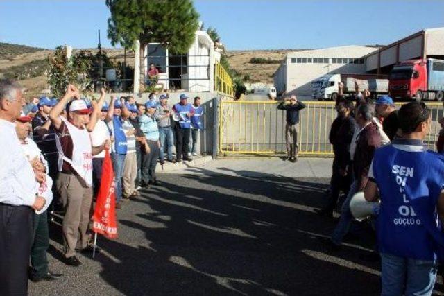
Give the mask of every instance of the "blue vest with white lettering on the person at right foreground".
[[436, 214], [444, 185], [444, 157], [431, 151], [384, 146], [375, 151], [373, 176], [381, 197], [377, 216], [379, 252], [409, 259], [436, 259], [444, 250], [444, 234]]

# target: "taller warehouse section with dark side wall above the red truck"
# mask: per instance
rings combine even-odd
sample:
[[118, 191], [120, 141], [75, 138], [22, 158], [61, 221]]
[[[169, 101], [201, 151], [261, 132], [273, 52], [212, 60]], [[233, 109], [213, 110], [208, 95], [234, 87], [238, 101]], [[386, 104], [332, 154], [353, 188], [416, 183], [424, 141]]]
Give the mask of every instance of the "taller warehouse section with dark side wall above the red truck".
[[404, 60], [444, 57], [444, 28], [429, 28], [366, 55], [366, 71], [389, 73]]

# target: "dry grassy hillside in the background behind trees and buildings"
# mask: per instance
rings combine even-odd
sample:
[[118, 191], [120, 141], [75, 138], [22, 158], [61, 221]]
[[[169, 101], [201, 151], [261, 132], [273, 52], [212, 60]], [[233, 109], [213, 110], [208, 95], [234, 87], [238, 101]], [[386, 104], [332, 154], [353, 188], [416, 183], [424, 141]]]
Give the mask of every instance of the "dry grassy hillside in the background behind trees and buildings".
[[[114, 61], [123, 61], [123, 49], [104, 50]], [[96, 49], [91, 51], [94, 52]], [[273, 82], [273, 73], [289, 51], [298, 51], [298, 49], [228, 51], [227, 55], [231, 67], [239, 72], [246, 82], [269, 83]], [[0, 43], [0, 78], [19, 80], [26, 88], [27, 96], [37, 96], [48, 88], [47, 57], [52, 52], [31, 46]], [[132, 56], [128, 55], [128, 64], [134, 63]]]

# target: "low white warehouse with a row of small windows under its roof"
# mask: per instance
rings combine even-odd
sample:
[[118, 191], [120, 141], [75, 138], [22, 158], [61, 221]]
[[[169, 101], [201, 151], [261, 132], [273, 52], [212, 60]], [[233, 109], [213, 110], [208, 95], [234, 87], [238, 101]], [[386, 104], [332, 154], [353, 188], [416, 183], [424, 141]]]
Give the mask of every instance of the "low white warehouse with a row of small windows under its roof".
[[364, 55], [376, 51], [370, 46], [339, 46], [287, 53], [274, 83], [278, 94], [311, 96], [311, 82], [327, 73], [366, 73]]

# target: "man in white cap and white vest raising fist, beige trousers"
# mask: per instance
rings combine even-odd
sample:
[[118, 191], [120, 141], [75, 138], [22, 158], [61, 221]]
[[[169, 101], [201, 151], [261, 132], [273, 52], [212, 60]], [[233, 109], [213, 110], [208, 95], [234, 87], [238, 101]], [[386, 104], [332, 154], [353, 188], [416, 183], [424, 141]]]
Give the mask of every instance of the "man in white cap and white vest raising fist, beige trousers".
[[[74, 100], [72, 100], [75, 98]], [[71, 101], [72, 100], [72, 101]], [[67, 120], [60, 114], [69, 104]], [[110, 142], [104, 141], [101, 146], [92, 146], [86, 124], [96, 123], [103, 100], [94, 104], [95, 109], [89, 118], [89, 109], [80, 99], [78, 89], [69, 85], [63, 98], [49, 113], [57, 133], [59, 154], [57, 189], [65, 207], [62, 231], [65, 263], [78, 266], [82, 264], [76, 258], [76, 250], [92, 252], [89, 245], [88, 226], [92, 206], [92, 155], [109, 148]], [[94, 129], [94, 124], [88, 124]]]

